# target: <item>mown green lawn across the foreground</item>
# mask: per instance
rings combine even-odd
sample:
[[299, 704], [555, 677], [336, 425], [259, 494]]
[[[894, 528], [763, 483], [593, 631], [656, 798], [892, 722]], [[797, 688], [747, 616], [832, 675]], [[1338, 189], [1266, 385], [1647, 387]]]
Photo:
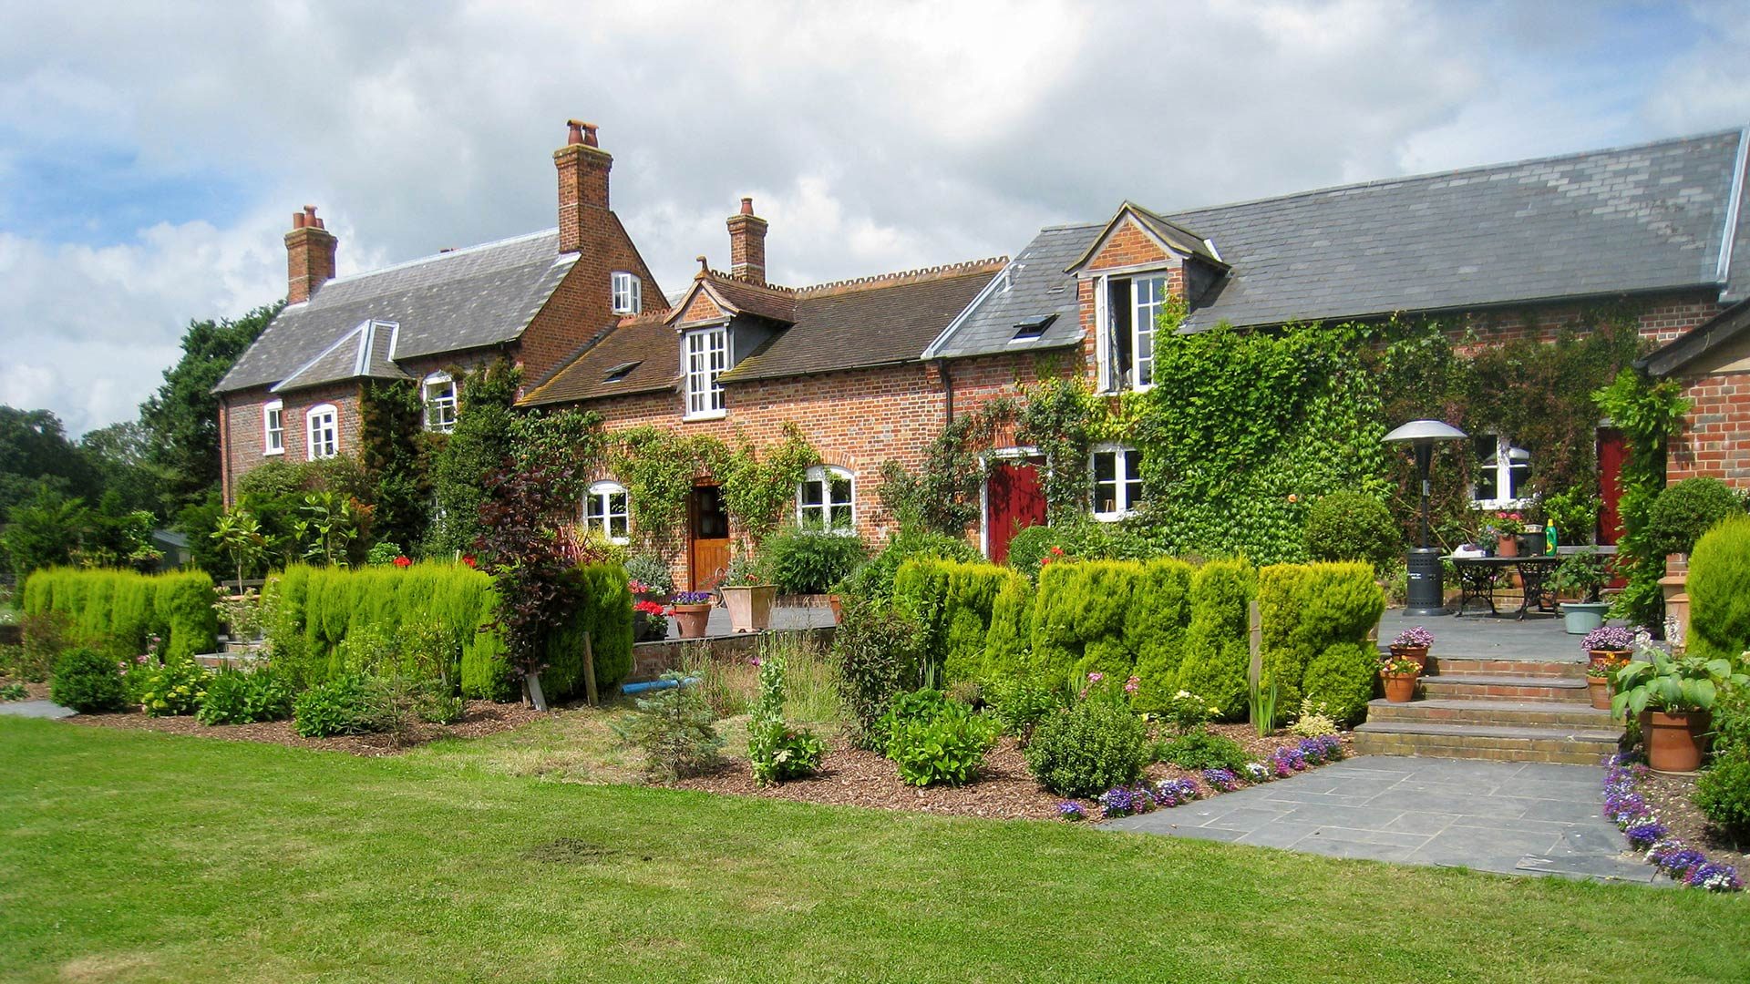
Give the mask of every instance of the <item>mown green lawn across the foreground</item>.
[[1745, 980], [1745, 896], [0, 718], [4, 980]]

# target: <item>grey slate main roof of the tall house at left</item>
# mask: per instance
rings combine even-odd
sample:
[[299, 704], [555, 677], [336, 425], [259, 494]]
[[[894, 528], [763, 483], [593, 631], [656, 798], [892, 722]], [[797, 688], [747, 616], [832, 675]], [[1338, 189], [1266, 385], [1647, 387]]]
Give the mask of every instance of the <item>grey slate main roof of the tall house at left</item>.
[[546, 229], [329, 280], [310, 301], [282, 310], [214, 390], [284, 389], [294, 373], [296, 385], [350, 378], [315, 380], [312, 371], [329, 376], [334, 368], [310, 362], [334, 355], [332, 347], [373, 319], [399, 324], [390, 350], [376, 350], [374, 371], [392, 369], [396, 359], [511, 341], [576, 259], [558, 252], [558, 229]]

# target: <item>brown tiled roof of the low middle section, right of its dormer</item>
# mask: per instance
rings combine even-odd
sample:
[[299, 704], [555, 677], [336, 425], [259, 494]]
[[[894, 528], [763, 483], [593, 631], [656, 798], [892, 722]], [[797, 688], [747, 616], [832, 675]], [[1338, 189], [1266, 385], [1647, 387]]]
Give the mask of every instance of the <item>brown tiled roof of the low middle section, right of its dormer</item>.
[[724, 383], [915, 362], [1003, 270], [975, 259], [796, 289], [794, 324], [733, 369]]

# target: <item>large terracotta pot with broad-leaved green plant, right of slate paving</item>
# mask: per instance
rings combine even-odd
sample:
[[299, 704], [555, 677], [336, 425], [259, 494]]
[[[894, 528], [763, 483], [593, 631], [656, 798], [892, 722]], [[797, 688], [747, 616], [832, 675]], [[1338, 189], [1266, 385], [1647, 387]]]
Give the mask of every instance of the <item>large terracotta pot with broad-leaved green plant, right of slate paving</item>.
[[1750, 676], [1732, 671], [1731, 660], [1671, 657], [1645, 650], [1617, 671], [1615, 713], [1640, 718], [1647, 763], [1659, 772], [1694, 772], [1706, 751], [1713, 699], [1722, 686], [1746, 686]]

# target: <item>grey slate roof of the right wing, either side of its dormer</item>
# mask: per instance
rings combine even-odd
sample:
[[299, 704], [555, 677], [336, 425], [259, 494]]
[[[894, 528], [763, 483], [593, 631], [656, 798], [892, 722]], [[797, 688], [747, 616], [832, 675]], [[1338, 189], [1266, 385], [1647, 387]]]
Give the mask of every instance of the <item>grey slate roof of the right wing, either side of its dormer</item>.
[[[1734, 301], [1750, 296], [1746, 135], [1731, 130], [1157, 217], [1211, 240], [1232, 268], [1192, 310], [1192, 331], [1220, 320], [1267, 326], [1685, 287]], [[1017, 263], [1078, 235], [1088, 240], [1057, 277], [1031, 266], [1008, 296], [994, 291], [931, 354], [1010, 350], [1018, 308], [1043, 305], [1040, 292], [1057, 284], [1073, 292], [1074, 278], [1062, 270], [1102, 228], [1043, 229]], [[1726, 242], [1734, 245], [1722, 256]]]

